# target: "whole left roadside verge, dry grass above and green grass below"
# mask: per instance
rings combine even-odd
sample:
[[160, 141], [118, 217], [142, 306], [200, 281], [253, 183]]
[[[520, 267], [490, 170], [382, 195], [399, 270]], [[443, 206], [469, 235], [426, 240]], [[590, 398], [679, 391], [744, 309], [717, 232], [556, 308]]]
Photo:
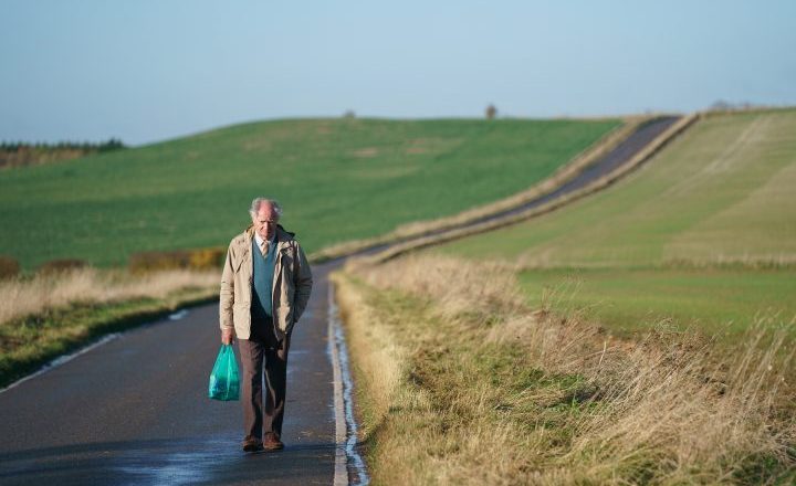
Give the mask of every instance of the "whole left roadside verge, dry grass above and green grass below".
[[0, 388], [108, 332], [218, 297], [217, 272], [127, 275], [84, 268], [3, 282]]

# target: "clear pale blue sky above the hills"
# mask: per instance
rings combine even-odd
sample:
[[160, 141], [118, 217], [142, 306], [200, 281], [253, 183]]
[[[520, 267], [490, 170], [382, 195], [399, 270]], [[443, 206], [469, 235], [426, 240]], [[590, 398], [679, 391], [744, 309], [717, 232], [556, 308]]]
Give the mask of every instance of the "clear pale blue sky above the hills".
[[796, 105], [796, 2], [0, 0], [0, 140]]

